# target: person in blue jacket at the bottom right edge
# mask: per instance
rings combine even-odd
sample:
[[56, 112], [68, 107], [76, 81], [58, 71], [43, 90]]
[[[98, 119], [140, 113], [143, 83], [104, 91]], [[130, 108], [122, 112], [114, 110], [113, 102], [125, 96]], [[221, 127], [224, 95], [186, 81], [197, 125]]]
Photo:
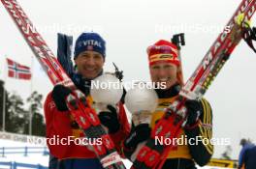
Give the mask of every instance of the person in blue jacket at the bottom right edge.
[[249, 140], [241, 139], [239, 157], [239, 169], [252, 169], [256, 166], [256, 146]]

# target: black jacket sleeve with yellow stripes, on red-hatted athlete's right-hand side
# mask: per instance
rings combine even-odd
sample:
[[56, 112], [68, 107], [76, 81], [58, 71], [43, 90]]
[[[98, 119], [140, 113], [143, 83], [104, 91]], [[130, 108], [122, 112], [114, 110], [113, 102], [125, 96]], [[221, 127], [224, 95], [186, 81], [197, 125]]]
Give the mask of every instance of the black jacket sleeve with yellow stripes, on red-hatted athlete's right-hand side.
[[193, 128], [185, 128], [187, 138], [198, 140], [197, 144], [189, 144], [189, 151], [196, 163], [204, 166], [213, 154], [212, 138], [212, 111], [206, 99], [201, 99], [201, 115], [199, 124]]

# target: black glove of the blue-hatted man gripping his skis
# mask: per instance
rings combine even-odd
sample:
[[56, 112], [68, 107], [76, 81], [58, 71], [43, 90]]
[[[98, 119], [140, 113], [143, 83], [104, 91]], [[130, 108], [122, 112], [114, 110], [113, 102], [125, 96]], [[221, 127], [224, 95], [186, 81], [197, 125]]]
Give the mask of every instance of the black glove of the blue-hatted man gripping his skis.
[[56, 107], [59, 111], [67, 111], [69, 108], [66, 105], [65, 99], [68, 95], [72, 93], [72, 90], [63, 86], [63, 85], [56, 85], [54, 86], [51, 97], [56, 104]]

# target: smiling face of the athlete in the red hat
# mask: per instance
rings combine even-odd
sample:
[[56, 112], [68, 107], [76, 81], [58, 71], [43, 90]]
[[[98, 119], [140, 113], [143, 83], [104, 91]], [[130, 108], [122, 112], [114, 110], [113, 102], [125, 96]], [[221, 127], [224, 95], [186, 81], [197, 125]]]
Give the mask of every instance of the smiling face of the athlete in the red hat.
[[152, 82], [165, 82], [166, 89], [176, 84], [177, 67], [171, 63], [157, 63], [149, 68]]

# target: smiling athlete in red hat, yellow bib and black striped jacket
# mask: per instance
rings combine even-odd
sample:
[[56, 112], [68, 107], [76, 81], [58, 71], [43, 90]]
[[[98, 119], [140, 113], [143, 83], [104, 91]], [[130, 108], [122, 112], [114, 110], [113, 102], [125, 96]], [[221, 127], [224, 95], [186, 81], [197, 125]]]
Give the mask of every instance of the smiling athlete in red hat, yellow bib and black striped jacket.
[[[176, 99], [183, 85], [181, 63], [177, 56], [177, 47], [171, 42], [161, 40], [147, 48], [149, 70], [152, 82], [165, 82], [165, 89], [156, 89], [158, 107], [152, 114], [150, 126], [139, 125], [133, 127], [129, 137], [124, 142], [124, 153], [128, 157], [136, 150], [137, 145], [145, 141], [157, 121], [163, 116], [164, 109]], [[198, 138], [198, 144], [176, 145], [170, 151], [162, 169], [194, 169], [195, 162], [200, 166], [206, 165], [213, 154], [213, 145], [204, 145], [203, 139], [212, 136], [211, 108], [206, 99], [187, 100], [185, 106], [188, 111], [187, 123], [182, 128], [180, 138]], [[201, 141], [200, 141], [201, 140]], [[184, 140], [183, 140], [184, 141]]]

